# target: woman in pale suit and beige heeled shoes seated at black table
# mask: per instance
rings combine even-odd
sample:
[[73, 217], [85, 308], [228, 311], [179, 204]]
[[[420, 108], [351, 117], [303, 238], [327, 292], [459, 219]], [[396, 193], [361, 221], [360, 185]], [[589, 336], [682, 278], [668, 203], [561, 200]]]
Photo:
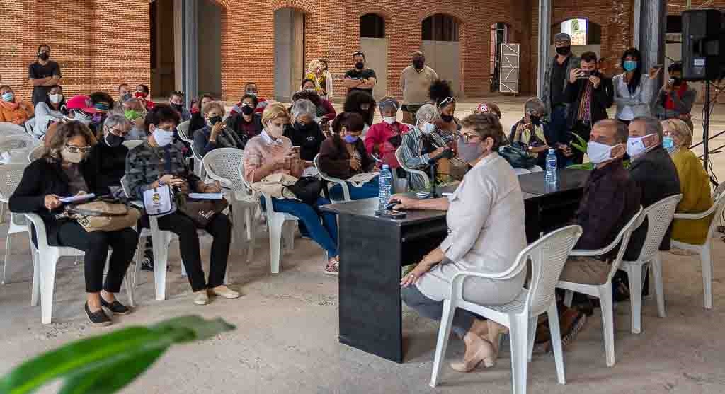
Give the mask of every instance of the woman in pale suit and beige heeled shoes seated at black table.
[[[402, 299], [429, 319], [440, 320], [443, 300], [450, 297], [451, 282], [458, 272], [505, 272], [526, 247], [523, 195], [513, 168], [497, 154], [504, 139], [497, 117], [472, 114], [461, 123], [463, 138], [481, 144], [481, 158], [449, 198], [416, 200], [394, 196], [396, 209], [448, 211], [448, 237], [428, 253], [413, 272], [403, 277]], [[481, 305], [501, 305], [521, 292], [526, 269], [510, 280], [471, 277], [463, 297]], [[451, 364], [459, 372], [471, 372], [481, 362], [492, 366], [498, 353], [498, 337], [505, 327], [492, 320], [457, 309], [453, 332], [463, 339], [463, 362]]]

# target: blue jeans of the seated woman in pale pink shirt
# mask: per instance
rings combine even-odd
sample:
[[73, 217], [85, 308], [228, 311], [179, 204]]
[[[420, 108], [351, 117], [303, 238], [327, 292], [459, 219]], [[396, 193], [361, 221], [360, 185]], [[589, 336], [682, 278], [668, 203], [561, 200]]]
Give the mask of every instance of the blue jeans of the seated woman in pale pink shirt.
[[[317, 206], [330, 204], [326, 198], [318, 198]], [[305, 223], [310, 238], [325, 249], [329, 257], [336, 257], [337, 251], [337, 217], [335, 214], [318, 211], [316, 206], [302, 201], [272, 198], [272, 206], [276, 212], [291, 214]], [[262, 204], [262, 208], [264, 204]], [[320, 217], [322, 222], [320, 222]]]

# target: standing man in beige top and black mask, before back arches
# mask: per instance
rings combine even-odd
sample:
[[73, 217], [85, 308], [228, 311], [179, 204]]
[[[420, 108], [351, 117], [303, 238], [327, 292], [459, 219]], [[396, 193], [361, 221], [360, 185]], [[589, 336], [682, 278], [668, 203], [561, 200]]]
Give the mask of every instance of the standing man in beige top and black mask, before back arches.
[[431, 83], [438, 74], [426, 66], [426, 56], [421, 51], [413, 52], [413, 65], [405, 67], [400, 73], [400, 88], [403, 91], [403, 123], [415, 125], [415, 113], [426, 104]]

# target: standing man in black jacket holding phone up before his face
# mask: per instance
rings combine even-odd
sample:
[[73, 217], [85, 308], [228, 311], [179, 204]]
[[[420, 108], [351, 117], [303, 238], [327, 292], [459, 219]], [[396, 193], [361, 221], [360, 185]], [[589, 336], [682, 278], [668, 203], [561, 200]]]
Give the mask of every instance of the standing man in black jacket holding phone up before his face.
[[[564, 100], [571, 105], [567, 120], [568, 129], [589, 141], [592, 125], [607, 119], [607, 109], [614, 101], [612, 80], [597, 70], [597, 54], [584, 52], [581, 55], [581, 68], [571, 70], [568, 75]], [[575, 141], [569, 135], [568, 141]], [[584, 153], [567, 149], [572, 162], [581, 164]]]

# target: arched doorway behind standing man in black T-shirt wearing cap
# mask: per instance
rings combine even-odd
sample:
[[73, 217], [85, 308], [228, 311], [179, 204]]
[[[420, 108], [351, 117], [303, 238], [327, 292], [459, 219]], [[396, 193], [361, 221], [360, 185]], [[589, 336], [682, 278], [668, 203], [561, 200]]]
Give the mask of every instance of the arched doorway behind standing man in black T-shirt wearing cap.
[[380, 100], [388, 95], [388, 39], [384, 17], [378, 14], [360, 17], [360, 50], [365, 52], [367, 67], [375, 70], [378, 83], [373, 96]]

